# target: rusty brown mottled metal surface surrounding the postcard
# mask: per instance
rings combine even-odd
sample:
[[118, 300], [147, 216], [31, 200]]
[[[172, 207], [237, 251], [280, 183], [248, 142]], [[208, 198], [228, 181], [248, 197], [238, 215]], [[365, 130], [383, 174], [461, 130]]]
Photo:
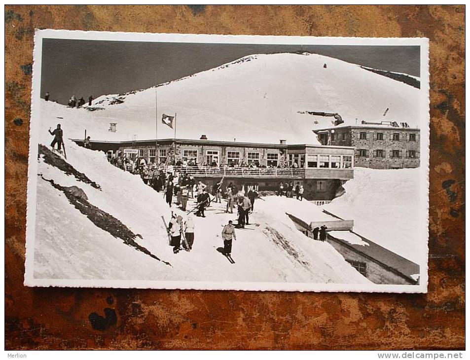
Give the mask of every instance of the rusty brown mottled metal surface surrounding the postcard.
[[[35, 28], [430, 38], [428, 294], [25, 288]], [[5, 7], [7, 349], [465, 347], [465, 6]]]

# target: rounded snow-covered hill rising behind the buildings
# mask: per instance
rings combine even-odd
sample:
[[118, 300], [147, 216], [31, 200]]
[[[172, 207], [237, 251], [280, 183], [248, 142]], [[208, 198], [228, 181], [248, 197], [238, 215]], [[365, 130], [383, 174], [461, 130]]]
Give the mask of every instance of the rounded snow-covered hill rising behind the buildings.
[[[418, 89], [316, 54], [248, 56], [156, 89], [158, 118], [177, 113], [179, 138], [205, 134], [211, 140], [317, 144], [312, 129], [331, 125], [333, 118], [299, 113], [304, 111], [338, 112], [348, 124], [382, 119], [419, 125]], [[111, 104], [116, 99], [123, 103]], [[155, 88], [102, 96], [93, 107], [101, 109], [70, 109], [42, 101], [40, 121], [57, 113], [71, 138], [82, 138], [84, 128], [94, 140], [155, 138]], [[118, 124], [116, 133], [108, 132], [110, 122]], [[173, 135], [159, 120], [158, 138]]]

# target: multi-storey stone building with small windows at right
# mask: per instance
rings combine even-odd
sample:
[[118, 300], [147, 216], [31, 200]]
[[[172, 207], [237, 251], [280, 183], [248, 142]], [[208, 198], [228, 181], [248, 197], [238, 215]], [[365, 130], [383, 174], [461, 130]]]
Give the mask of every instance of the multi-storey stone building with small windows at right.
[[420, 164], [420, 129], [417, 128], [363, 123], [313, 132], [323, 145], [354, 147], [356, 166], [402, 169], [417, 168]]

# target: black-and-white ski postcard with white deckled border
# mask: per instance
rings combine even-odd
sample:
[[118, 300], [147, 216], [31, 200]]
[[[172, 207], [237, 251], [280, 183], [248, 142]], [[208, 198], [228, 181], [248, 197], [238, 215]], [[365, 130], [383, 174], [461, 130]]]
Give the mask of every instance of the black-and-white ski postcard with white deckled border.
[[27, 286], [426, 292], [426, 38], [37, 30]]

